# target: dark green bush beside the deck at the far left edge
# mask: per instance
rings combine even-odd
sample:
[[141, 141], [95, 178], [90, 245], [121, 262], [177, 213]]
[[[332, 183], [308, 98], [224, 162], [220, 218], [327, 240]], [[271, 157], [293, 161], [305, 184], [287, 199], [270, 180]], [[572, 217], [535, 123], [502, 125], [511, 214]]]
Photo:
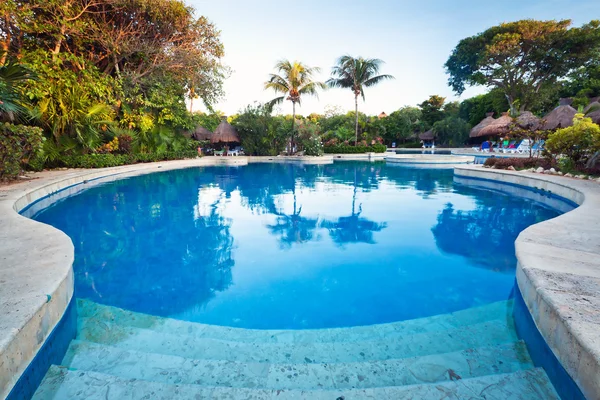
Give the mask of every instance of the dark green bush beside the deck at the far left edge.
[[0, 180], [16, 179], [23, 166], [40, 151], [44, 137], [33, 126], [0, 125]]

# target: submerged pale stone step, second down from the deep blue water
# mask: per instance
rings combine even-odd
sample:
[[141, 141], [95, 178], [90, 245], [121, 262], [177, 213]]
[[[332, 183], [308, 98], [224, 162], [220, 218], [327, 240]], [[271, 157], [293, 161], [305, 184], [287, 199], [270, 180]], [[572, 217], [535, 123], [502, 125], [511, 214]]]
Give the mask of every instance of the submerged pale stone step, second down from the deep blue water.
[[512, 322], [491, 320], [445, 331], [354, 342], [248, 343], [174, 335], [113, 323], [83, 324], [77, 339], [180, 357], [266, 363], [389, 360], [495, 346], [519, 340]]

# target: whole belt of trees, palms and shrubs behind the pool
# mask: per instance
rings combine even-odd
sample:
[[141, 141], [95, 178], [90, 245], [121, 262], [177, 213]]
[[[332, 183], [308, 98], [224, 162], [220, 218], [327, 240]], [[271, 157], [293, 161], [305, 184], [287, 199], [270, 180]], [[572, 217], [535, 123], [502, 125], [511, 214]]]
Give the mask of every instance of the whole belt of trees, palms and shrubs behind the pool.
[[[183, 0], [0, 3], [0, 122], [10, 123], [3, 126], [2, 177], [18, 176], [24, 166], [104, 167], [192, 156], [207, 143], [193, 141], [191, 133], [200, 126], [214, 131], [223, 118], [213, 109], [228, 75], [223, 54], [216, 27]], [[572, 27], [568, 20], [522, 20], [491, 27], [461, 40], [445, 64], [456, 93], [473, 85], [488, 93], [462, 102], [431, 95], [389, 115], [367, 116], [358, 98], [393, 79], [380, 74], [382, 64], [342, 56], [322, 83], [315, 79], [319, 68], [282, 60], [264, 83], [277, 97], [228, 121], [251, 155], [417, 147], [426, 131], [438, 145], [462, 146], [487, 113], [542, 116], [560, 97], [583, 109], [600, 96], [600, 22]], [[296, 114], [304, 97], [327, 87], [350, 89], [354, 111]], [[186, 99], [199, 99], [209, 113], [192, 113]], [[285, 101], [292, 115], [274, 115], [273, 106]], [[557, 132], [515, 128], [512, 135], [548, 138], [548, 159], [590, 169], [600, 159], [596, 129], [581, 116]], [[22, 148], [9, 150], [15, 146]]]

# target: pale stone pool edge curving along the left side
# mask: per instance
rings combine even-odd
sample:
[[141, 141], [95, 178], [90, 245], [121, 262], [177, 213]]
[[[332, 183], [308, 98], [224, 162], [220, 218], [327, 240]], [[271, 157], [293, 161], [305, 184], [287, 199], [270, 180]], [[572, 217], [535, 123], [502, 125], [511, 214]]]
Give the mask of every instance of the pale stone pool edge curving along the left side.
[[[19, 214], [58, 191], [108, 176], [126, 178], [248, 157], [203, 157], [94, 170], [44, 171], [0, 187], [0, 399], [11, 393], [65, 315], [74, 291], [74, 247], [62, 231]], [[250, 162], [257, 162], [251, 160]]]

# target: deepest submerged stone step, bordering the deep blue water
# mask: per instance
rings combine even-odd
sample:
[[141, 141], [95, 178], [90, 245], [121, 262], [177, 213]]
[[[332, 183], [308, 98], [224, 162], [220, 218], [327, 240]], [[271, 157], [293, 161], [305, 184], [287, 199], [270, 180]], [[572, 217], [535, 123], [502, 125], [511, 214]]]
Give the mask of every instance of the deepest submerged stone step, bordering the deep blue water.
[[104, 306], [89, 300], [77, 300], [79, 321], [83, 326], [110, 321], [113, 324], [151, 329], [162, 333], [258, 343], [352, 342], [394, 335], [444, 331], [494, 319], [505, 320], [512, 315], [512, 308], [513, 302], [509, 300], [449, 314], [371, 326], [306, 330], [260, 330], [181, 321]]

